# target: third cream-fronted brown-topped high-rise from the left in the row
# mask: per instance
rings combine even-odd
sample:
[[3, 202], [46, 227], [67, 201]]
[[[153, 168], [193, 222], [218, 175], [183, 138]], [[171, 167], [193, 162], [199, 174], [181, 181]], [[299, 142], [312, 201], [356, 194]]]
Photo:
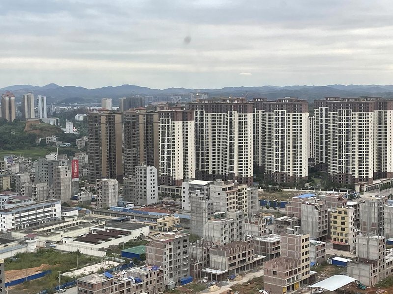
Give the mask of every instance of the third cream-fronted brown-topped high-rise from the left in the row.
[[295, 97], [263, 103], [262, 154], [265, 178], [291, 183], [308, 175], [308, 103]]

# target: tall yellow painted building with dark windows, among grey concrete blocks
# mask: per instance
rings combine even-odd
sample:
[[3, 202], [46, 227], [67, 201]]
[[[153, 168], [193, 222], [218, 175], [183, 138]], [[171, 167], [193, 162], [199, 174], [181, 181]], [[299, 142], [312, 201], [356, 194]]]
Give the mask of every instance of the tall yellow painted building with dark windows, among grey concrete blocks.
[[333, 249], [343, 251], [355, 250], [355, 209], [349, 206], [337, 207], [330, 213], [330, 237]]

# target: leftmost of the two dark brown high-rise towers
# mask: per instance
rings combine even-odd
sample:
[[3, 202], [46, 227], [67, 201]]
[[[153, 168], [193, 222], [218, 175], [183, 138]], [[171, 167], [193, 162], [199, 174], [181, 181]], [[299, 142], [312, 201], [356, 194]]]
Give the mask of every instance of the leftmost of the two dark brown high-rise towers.
[[87, 115], [89, 182], [112, 178], [123, 180], [121, 113], [90, 112]]

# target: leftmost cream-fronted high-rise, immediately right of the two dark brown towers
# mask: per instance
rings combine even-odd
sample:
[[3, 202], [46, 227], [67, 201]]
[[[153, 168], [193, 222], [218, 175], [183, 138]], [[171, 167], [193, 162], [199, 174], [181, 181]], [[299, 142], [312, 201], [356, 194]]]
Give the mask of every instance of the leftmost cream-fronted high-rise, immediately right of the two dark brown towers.
[[161, 193], [180, 195], [183, 180], [195, 177], [195, 141], [194, 111], [159, 111]]

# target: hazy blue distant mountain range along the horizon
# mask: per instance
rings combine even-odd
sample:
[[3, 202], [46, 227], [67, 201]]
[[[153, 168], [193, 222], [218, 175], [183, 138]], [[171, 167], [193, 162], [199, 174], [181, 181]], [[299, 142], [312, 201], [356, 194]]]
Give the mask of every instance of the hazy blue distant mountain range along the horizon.
[[16, 98], [21, 98], [24, 93], [33, 92], [35, 95], [47, 97], [47, 103], [100, 103], [101, 98], [117, 99], [131, 95], [148, 96], [171, 96], [181, 95], [188, 97], [190, 92], [208, 92], [210, 97], [214, 96], [245, 96], [247, 98], [267, 97], [270, 100], [285, 96], [298, 97], [308, 101], [324, 98], [325, 96], [358, 97], [358, 96], [381, 96], [393, 98], [393, 85], [328, 85], [328, 86], [261, 86], [261, 87], [225, 87], [222, 89], [186, 89], [168, 88], [151, 89], [135, 85], [108, 86], [97, 89], [87, 89], [76, 86], [59, 86], [48, 84], [46, 86], [13, 85], [0, 89], [0, 93], [11, 91]]

